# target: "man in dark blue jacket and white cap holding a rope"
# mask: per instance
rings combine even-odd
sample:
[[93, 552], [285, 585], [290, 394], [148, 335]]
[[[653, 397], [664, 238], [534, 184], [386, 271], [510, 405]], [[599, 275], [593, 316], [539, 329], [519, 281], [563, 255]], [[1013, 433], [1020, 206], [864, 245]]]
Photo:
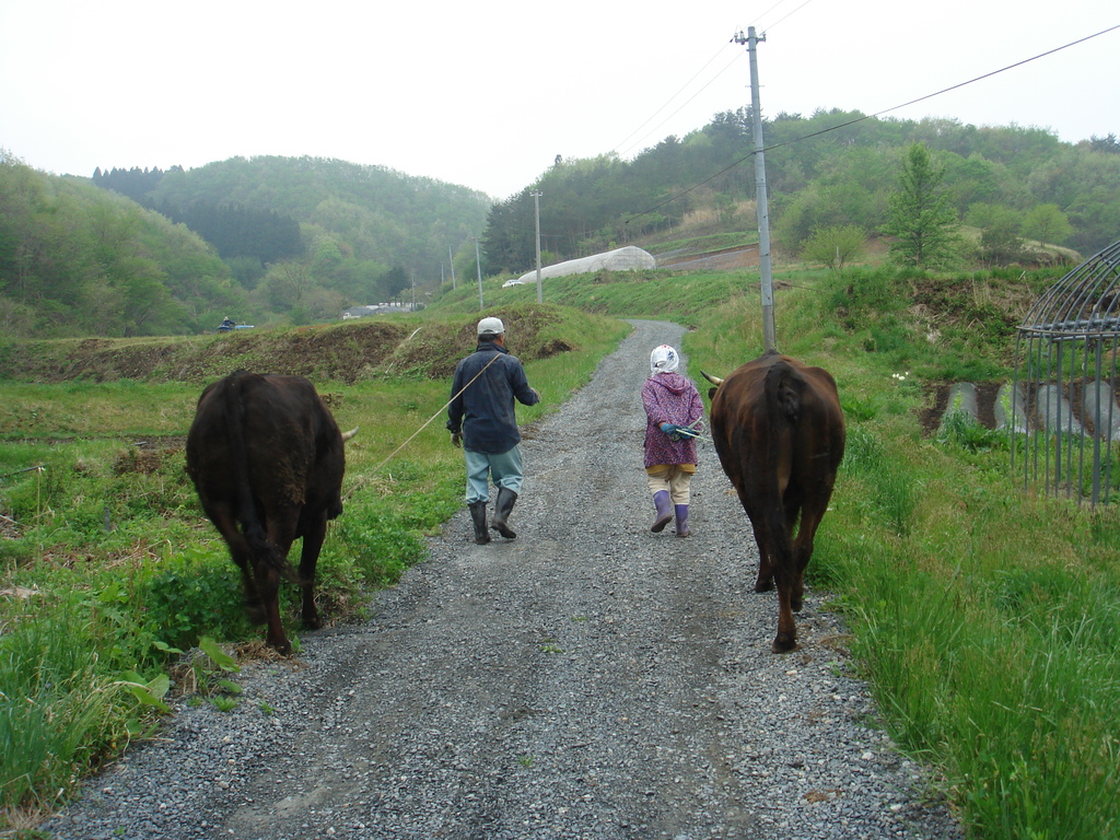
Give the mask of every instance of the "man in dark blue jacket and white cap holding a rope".
[[510, 512], [523, 480], [514, 399], [535, 405], [541, 395], [529, 386], [521, 360], [505, 348], [501, 318], [478, 321], [478, 347], [455, 368], [451, 394], [447, 429], [451, 442], [463, 447], [467, 459], [467, 506], [475, 525], [475, 542], [491, 540], [486, 530], [489, 478], [497, 487], [491, 528], [512, 540], [517, 534], [510, 529]]

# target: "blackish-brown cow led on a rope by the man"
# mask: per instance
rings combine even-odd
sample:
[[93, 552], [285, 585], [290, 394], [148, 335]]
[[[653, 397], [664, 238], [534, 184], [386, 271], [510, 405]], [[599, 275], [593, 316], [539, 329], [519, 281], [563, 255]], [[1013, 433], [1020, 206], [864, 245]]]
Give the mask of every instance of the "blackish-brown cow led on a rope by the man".
[[[321, 624], [315, 567], [327, 520], [343, 512], [343, 442], [356, 431], [338, 431], [302, 376], [236, 371], [198, 398], [187, 433], [187, 473], [241, 568], [249, 617], [268, 623], [268, 643], [280, 653], [291, 652], [277, 601], [281, 577], [298, 580], [304, 590], [304, 624]], [[297, 576], [288, 550], [299, 538]]]

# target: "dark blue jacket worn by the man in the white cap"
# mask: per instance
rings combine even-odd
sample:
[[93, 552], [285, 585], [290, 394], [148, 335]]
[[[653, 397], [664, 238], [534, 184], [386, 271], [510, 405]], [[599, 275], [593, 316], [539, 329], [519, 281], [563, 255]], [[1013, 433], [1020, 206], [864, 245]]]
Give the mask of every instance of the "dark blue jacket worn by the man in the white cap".
[[459, 362], [451, 395], [448, 430], [463, 432], [466, 449], [488, 455], [507, 452], [521, 441], [514, 399], [524, 405], [535, 405], [541, 399], [529, 386], [521, 360], [494, 342], [479, 342], [478, 348]]

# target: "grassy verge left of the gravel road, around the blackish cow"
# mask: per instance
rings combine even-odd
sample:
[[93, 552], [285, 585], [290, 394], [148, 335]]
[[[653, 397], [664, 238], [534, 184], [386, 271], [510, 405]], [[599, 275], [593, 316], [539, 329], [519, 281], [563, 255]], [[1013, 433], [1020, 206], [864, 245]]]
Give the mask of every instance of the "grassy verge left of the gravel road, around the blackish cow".
[[[494, 314], [520, 325], [535, 357], [526, 372], [542, 401], [523, 422], [556, 411], [628, 330], [556, 307]], [[395, 375], [316, 383], [344, 428], [361, 427], [347, 444], [345, 514], [320, 558], [330, 620], [362, 617], [370, 592], [421, 560], [424, 536], [461, 506], [463, 454], [445, 429], [450, 380], [424, 374], [474, 348], [475, 320], [424, 321], [431, 346], [410, 348]], [[516, 332], [511, 344], [520, 352]], [[152, 731], [181, 651], [205, 637], [245, 645], [260, 631], [183, 468], [197, 385], [0, 388], [0, 825], [13, 829]], [[298, 645], [295, 589], [283, 594]]]

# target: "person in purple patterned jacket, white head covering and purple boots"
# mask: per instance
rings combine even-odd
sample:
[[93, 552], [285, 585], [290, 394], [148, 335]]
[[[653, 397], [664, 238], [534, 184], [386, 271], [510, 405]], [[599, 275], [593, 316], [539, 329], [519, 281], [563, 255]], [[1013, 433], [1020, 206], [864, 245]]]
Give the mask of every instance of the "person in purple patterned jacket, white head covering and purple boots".
[[688, 379], [676, 373], [680, 356], [668, 344], [650, 355], [650, 379], [642, 385], [645, 407], [645, 472], [657, 517], [650, 529], [664, 530], [676, 516], [676, 535], [688, 536], [689, 484], [697, 472], [699, 420], [703, 402]]

